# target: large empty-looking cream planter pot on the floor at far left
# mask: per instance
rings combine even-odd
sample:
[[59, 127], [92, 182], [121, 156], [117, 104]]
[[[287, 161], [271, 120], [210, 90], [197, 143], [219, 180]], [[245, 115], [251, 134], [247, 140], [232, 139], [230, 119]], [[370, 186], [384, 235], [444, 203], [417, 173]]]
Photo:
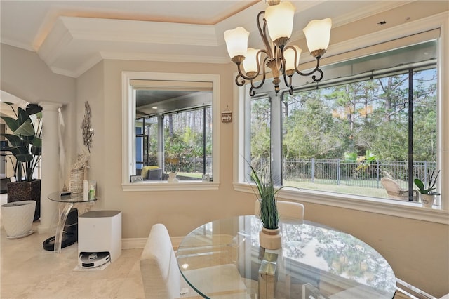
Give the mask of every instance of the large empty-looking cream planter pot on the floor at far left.
[[1, 205], [1, 221], [6, 238], [18, 239], [33, 233], [32, 225], [36, 201], [14, 201]]

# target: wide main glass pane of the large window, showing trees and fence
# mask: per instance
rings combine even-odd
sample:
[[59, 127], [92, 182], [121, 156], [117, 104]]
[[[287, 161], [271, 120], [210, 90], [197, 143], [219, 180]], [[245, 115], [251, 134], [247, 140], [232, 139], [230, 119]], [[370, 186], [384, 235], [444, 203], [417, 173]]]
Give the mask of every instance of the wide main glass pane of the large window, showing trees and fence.
[[283, 183], [398, 199], [382, 178], [408, 190], [414, 178], [434, 171], [436, 69], [405, 71], [286, 97]]

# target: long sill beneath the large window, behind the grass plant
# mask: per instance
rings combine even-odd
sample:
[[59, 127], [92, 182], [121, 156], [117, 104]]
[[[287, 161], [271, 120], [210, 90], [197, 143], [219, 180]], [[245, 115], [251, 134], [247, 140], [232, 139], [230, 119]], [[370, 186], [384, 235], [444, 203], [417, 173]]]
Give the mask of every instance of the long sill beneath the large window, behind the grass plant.
[[[239, 192], [254, 193], [248, 184], [234, 184], [234, 190]], [[410, 201], [396, 201], [391, 199], [377, 199], [370, 197], [356, 197], [354, 195], [330, 194], [327, 192], [311, 190], [288, 190], [285, 188], [278, 193], [280, 199], [309, 202], [311, 204], [323, 204], [338, 208], [349, 208], [356, 211], [391, 215], [401, 218], [409, 218], [428, 222], [449, 225], [449, 211], [434, 208], [424, 208], [420, 203]]]

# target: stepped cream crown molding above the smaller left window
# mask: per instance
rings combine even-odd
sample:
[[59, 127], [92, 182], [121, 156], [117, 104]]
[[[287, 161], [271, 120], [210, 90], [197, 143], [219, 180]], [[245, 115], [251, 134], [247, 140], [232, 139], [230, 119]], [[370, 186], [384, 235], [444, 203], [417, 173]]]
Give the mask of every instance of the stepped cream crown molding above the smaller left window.
[[[60, 17], [37, 53], [53, 72], [78, 77], [101, 59], [228, 63], [225, 57], [149, 51], [158, 44], [216, 47], [220, 43], [215, 27], [211, 25]], [[119, 51], [124, 45], [135, 45], [142, 51]], [[105, 51], [107, 48], [118, 51]], [[81, 63], [74, 63], [74, 60]]]

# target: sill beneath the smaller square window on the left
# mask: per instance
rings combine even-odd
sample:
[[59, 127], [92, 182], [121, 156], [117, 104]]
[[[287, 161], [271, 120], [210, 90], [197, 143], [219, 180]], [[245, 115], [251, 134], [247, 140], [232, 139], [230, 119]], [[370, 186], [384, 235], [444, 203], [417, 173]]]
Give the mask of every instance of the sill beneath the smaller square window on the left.
[[134, 182], [121, 184], [123, 191], [185, 191], [185, 190], [218, 190], [220, 182], [201, 182], [182, 180], [180, 182]]

